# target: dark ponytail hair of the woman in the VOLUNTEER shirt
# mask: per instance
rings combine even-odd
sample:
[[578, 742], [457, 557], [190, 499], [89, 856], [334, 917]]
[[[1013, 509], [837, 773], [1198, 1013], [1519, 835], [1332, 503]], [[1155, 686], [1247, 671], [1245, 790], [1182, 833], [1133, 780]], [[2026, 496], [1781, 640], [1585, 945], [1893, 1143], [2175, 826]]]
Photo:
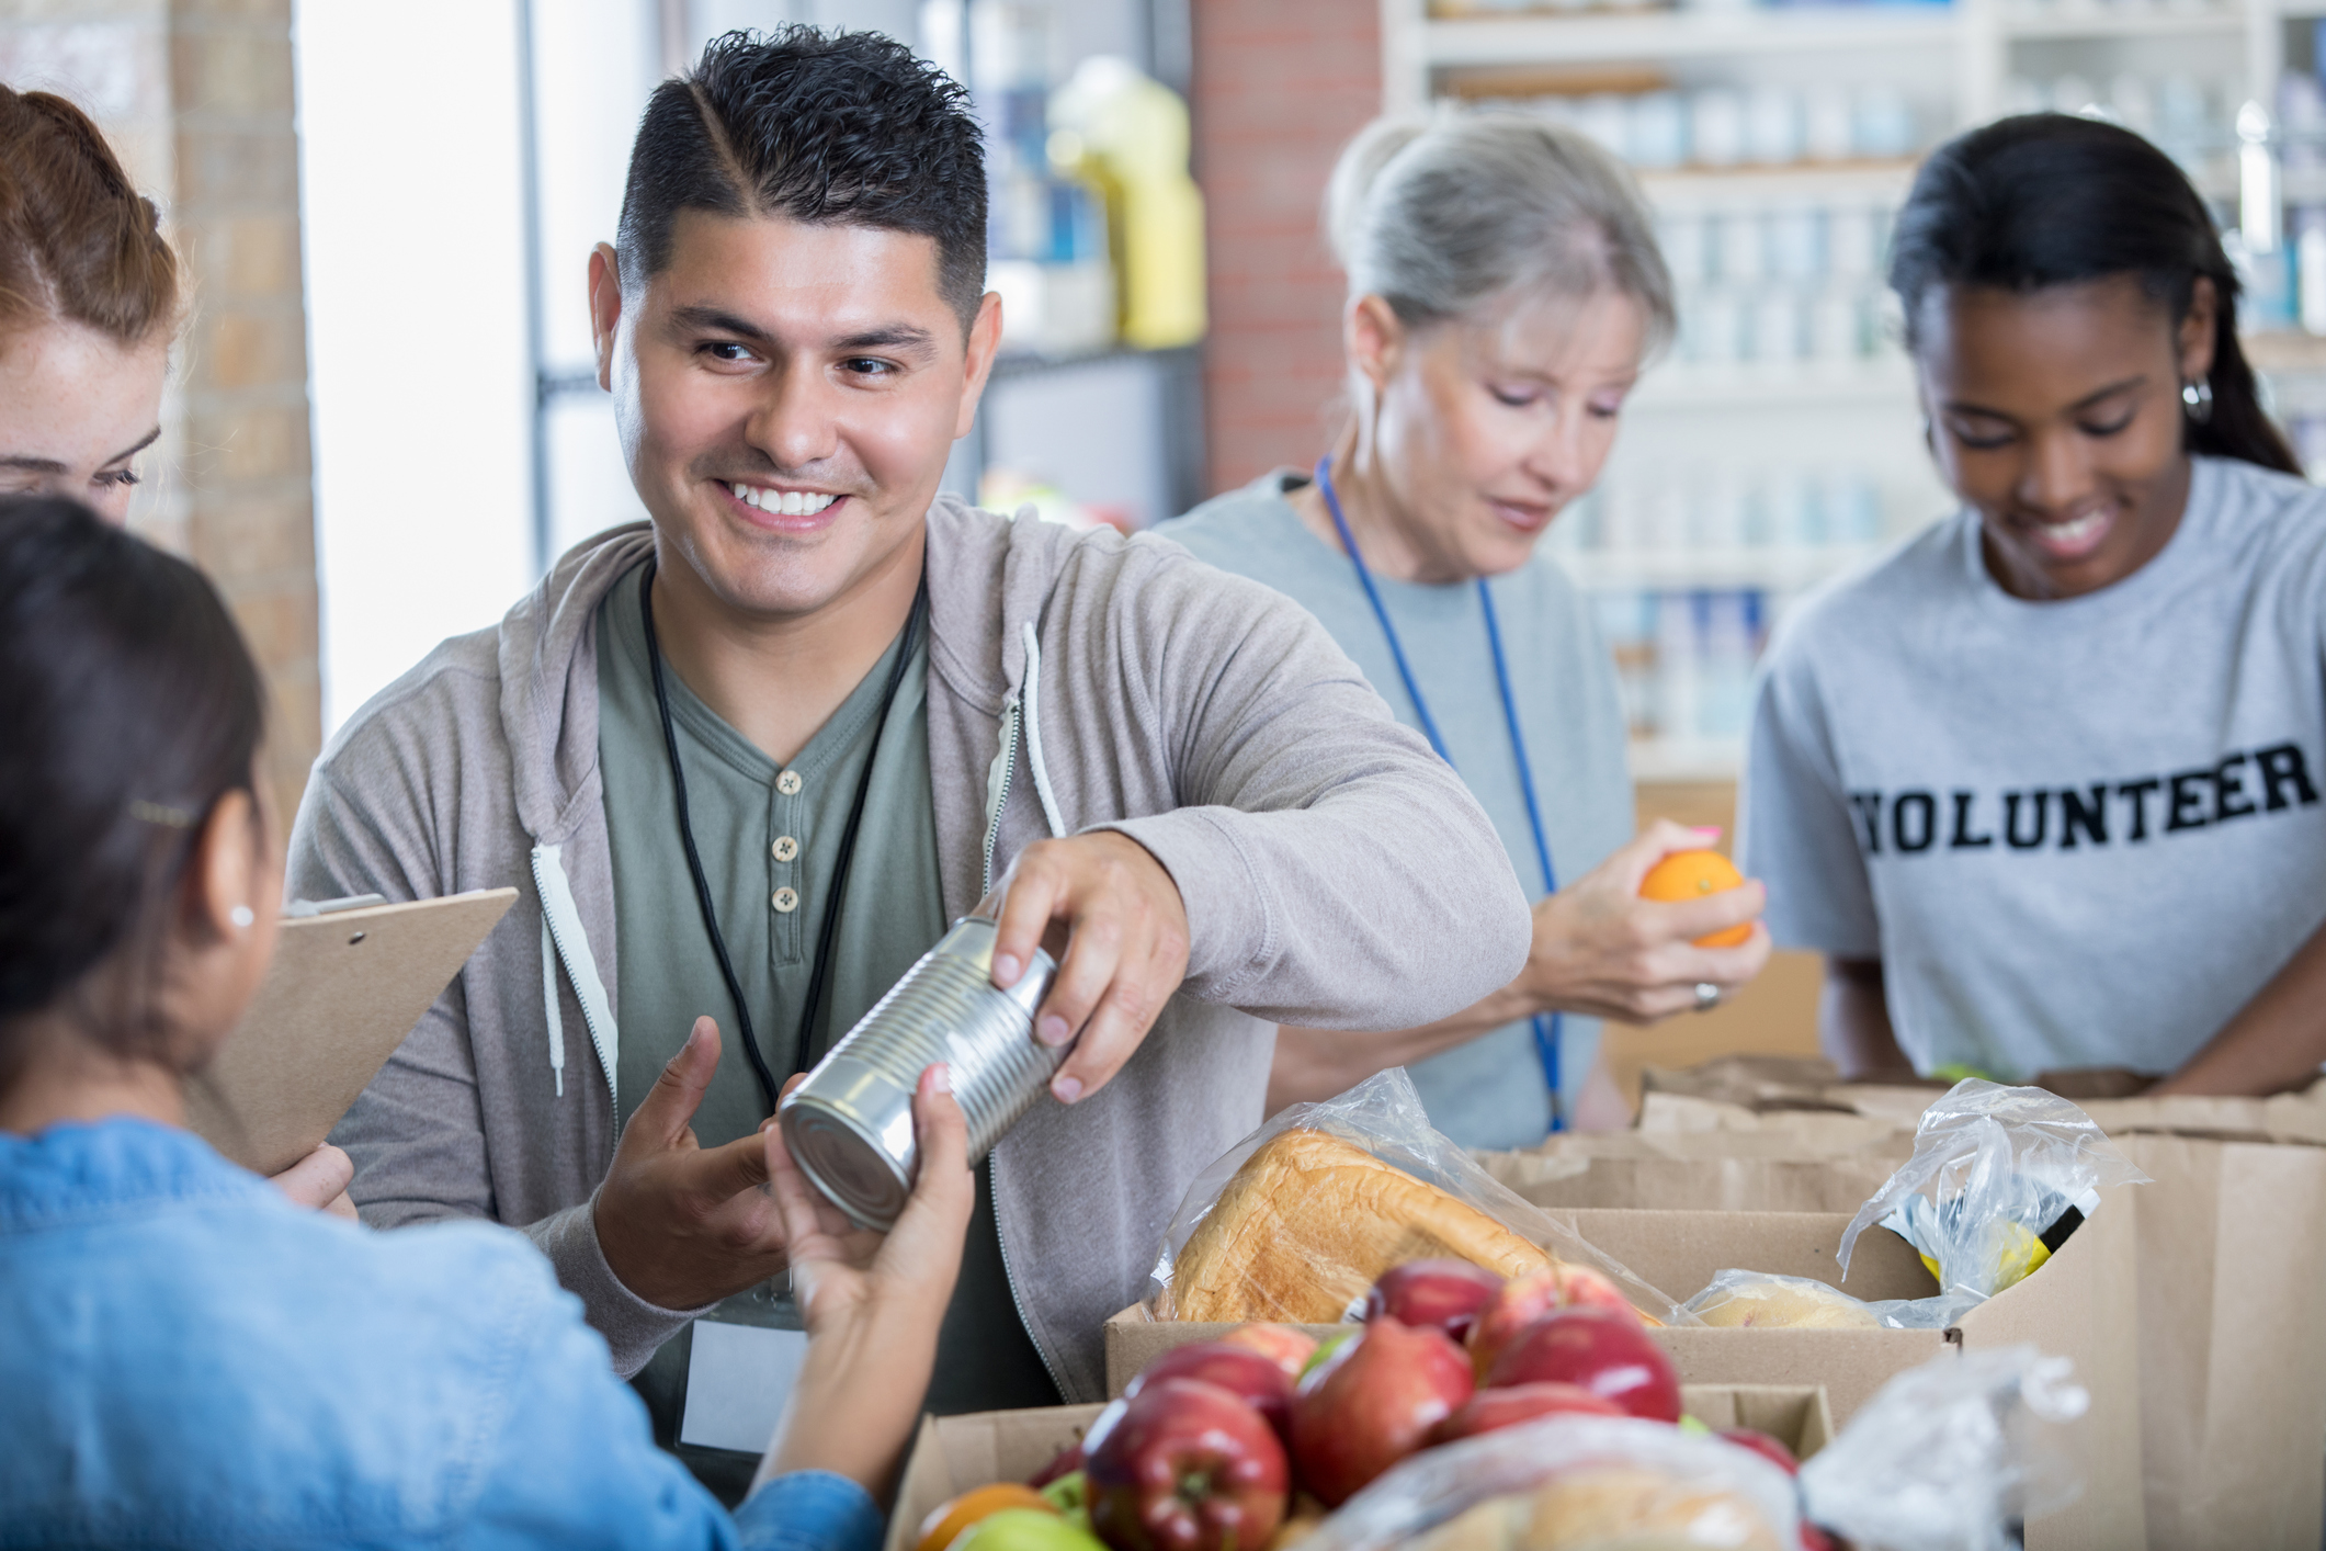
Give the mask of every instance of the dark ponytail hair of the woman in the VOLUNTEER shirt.
[[2212, 281], [2212, 414], [2189, 451], [2303, 467], [2261, 409], [2238, 346], [2238, 272], [2189, 177], [2140, 135], [2070, 114], [2021, 114], [1956, 135], [1914, 174], [1891, 237], [1907, 349], [1933, 286], [2042, 291], [2135, 274], [2179, 323]]

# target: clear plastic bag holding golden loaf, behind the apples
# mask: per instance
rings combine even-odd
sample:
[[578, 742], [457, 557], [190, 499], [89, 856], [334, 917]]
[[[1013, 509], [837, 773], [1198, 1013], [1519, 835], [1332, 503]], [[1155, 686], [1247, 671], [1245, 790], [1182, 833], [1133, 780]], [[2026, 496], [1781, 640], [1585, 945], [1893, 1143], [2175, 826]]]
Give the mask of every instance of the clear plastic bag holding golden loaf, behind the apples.
[[1358, 1314], [1382, 1272], [1430, 1258], [1500, 1277], [1556, 1270], [1561, 1302], [1696, 1323], [1433, 1130], [1403, 1067], [1291, 1105], [1203, 1170], [1163, 1235], [1147, 1302], [1154, 1318], [1335, 1323]]

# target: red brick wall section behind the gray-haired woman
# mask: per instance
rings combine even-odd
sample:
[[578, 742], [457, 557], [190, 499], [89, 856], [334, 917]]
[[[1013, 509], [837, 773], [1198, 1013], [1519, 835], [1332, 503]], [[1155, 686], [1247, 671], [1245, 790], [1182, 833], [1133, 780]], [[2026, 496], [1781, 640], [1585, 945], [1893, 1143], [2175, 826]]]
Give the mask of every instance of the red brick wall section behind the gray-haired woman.
[[1342, 274], [1319, 212], [1382, 112], [1375, 0], [1193, 0], [1196, 179], [1210, 230], [1207, 486], [1323, 451], [1342, 391]]

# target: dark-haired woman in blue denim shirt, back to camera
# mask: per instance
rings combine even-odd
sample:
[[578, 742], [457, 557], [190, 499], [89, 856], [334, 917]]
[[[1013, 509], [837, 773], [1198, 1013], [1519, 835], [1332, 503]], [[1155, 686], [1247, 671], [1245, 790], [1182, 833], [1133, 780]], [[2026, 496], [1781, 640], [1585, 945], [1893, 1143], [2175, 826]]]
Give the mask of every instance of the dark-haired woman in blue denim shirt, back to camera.
[[281, 905], [258, 670], [216, 591], [72, 502], [0, 500], [0, 726], [12, 1539], [877, 1546], [972, 1200], [944, 1067], [884, 1242], [765, 1132], [809, 1358], [728, 1518], [523, 1239], [298, 1212], [181, 1130]]

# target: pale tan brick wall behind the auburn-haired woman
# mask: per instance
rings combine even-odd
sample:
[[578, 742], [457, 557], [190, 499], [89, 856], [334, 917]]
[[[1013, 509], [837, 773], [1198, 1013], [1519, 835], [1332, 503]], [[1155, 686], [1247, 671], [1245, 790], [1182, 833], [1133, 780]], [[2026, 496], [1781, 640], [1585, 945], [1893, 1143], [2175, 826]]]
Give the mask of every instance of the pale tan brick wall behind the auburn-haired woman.
[[184, 260], [193, 316], [130, 526], [242, 623], [288, 825], [321, 739], [291, 0], [9, 0], [0, 79], [88, 109]]

